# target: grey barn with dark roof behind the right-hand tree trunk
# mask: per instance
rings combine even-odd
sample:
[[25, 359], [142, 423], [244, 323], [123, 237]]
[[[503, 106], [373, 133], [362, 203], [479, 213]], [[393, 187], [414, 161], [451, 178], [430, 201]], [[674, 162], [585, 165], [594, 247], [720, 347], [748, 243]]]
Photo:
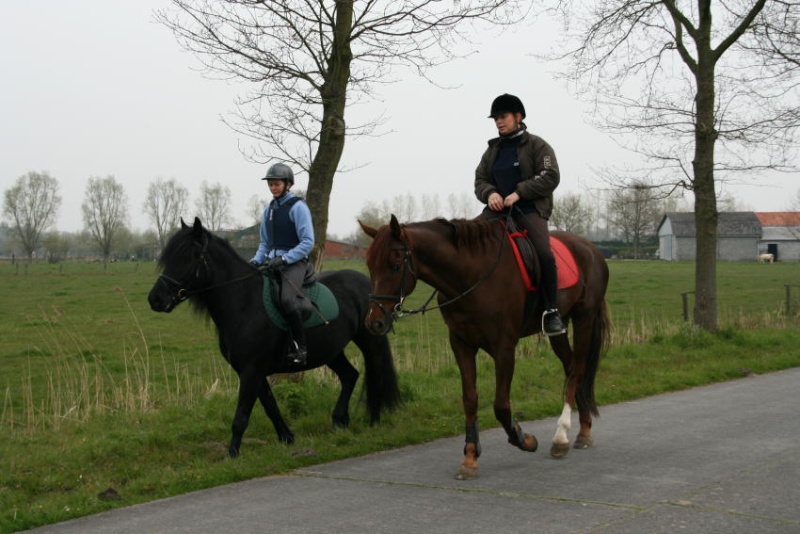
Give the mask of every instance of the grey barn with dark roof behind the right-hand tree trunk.
[[[667, 213], [658, 225], [659, 258], [694, 261], [697, 257], [694, 213]], [[717, 223], [717, 259], [754, 261], [759, 252], [762, 227], [752, 211], [723, 212]]]

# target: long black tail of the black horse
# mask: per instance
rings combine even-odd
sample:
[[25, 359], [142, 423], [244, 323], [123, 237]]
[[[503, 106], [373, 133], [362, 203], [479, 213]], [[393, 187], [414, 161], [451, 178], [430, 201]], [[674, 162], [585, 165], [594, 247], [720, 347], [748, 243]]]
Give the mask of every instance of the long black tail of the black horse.
[[389, 338], [368, 334], [364, 353], [366, 370], [365, 389], [370, 424], [380, 422], [381, 411], [391, 410], [400, 404], [400, 388]]

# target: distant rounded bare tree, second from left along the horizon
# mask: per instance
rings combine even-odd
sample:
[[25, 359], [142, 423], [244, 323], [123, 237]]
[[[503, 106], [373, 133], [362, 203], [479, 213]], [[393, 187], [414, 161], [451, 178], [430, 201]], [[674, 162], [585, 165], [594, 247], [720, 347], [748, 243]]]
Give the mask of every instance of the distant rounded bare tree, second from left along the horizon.
[[89, 178], [81, 208], [86, 231], [103, 254], [103, 261], [107, 262], [128, 218], [125, 188], [110, 175]]

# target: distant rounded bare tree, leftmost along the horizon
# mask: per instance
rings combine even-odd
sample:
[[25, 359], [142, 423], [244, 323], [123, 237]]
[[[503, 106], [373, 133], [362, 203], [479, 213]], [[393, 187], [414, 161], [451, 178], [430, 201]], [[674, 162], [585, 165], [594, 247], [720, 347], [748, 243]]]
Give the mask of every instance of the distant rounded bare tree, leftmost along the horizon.
[[59, 207], [58, 180], [46, 172], [29, 172], [6, 189], [3, 214], [13, 221], [14, 233], [28, 260], [39, 247], [42, 233], [55, 223]]

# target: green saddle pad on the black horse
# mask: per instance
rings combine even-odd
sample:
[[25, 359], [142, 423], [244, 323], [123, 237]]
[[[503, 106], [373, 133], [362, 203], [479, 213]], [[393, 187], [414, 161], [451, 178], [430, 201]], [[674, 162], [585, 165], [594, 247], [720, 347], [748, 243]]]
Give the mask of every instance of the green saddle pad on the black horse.
[[[283, 315], [280, 304], [280, 277], [273, 273], [265, 272], [262, 300], [264, 309], [270, 320], [281, 330], [289, 330], [289, 323]], [[306, 269], [303, 278], [303, 296], [300, 311], [303, 315], [303, 327], [311, 328], [336, 319], [339, 316], [339, 303], [333, 292], [322, 282], [317, 281], [317, 275], [312, 265]]]

